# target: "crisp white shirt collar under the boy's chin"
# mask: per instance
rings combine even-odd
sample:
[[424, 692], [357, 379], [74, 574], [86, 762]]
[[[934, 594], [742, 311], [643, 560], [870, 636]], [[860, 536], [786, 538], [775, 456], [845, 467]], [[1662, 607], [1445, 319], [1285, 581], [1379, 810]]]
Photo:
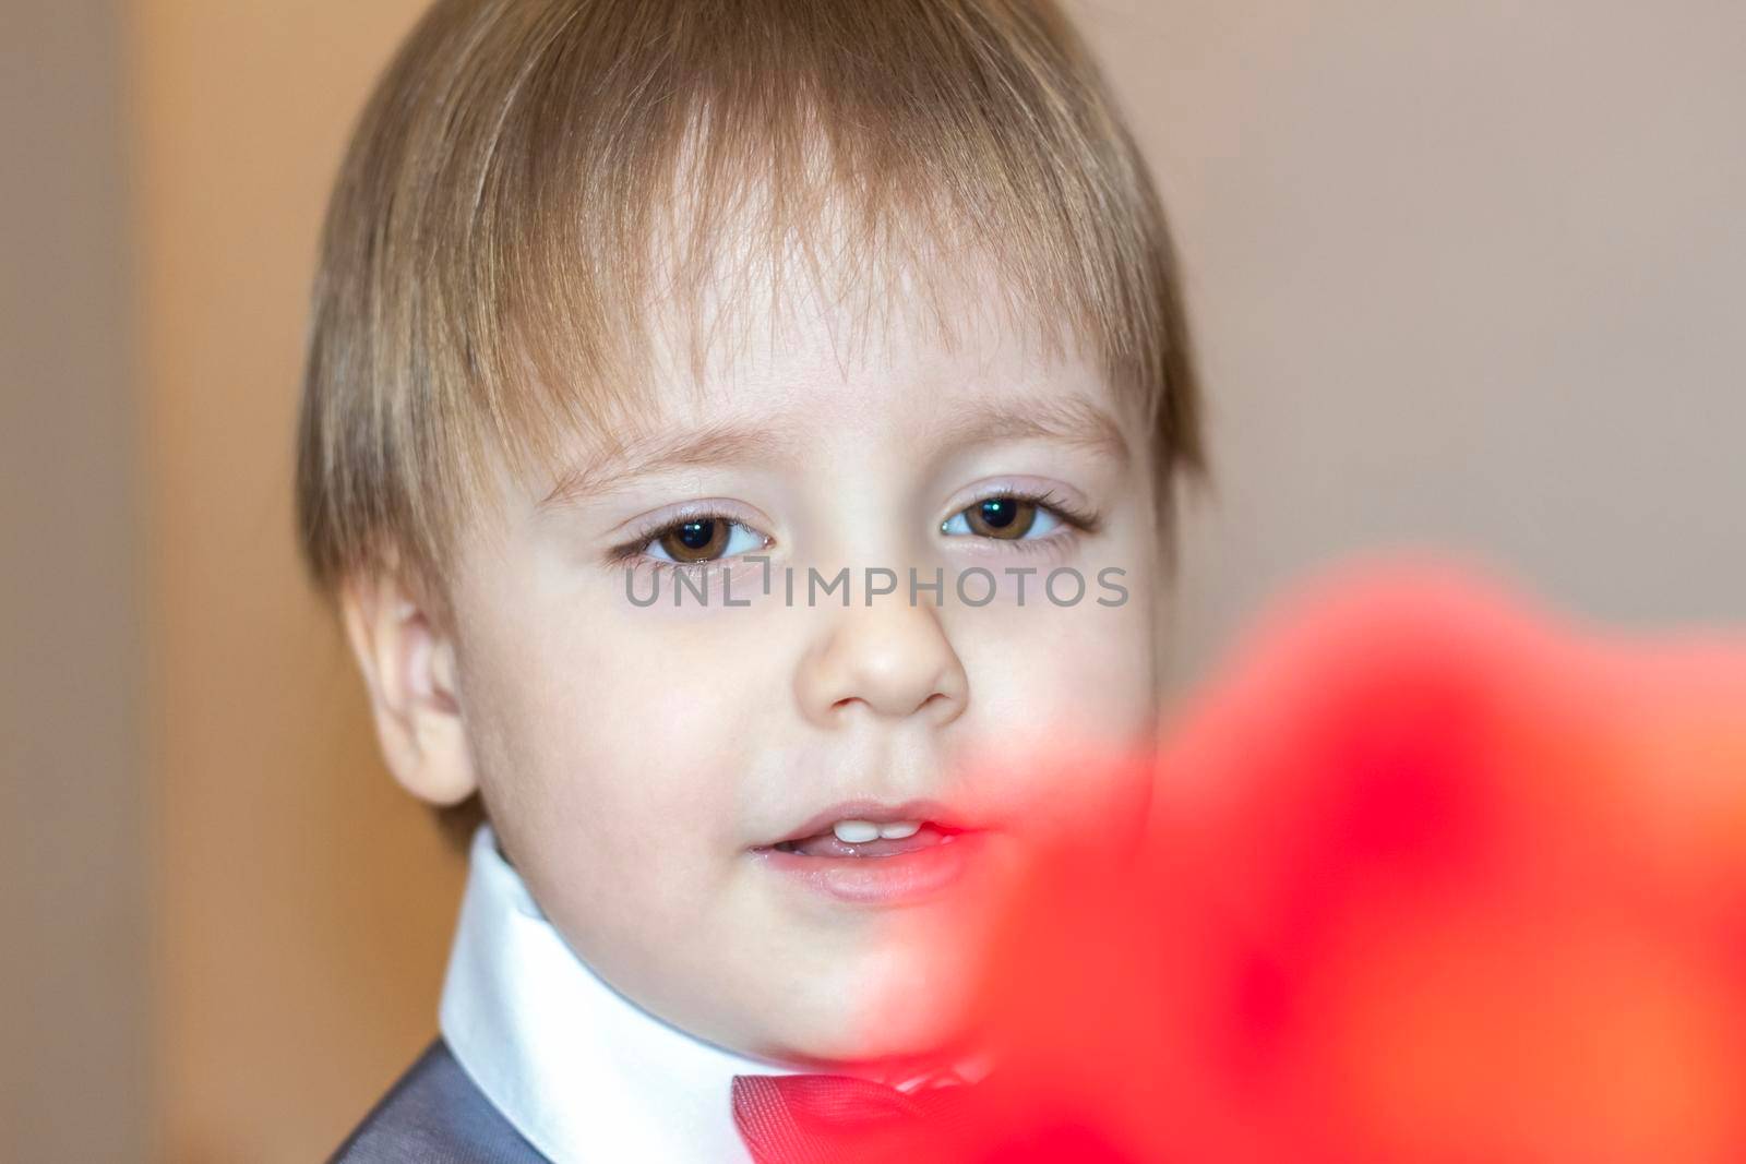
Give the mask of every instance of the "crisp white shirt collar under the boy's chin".
[[791, 1075], [688, 1035], [606, 984], [473, 834], [440, 1026], [461, 1068], [555, 1164], [751, 1157], [735, 1075]]

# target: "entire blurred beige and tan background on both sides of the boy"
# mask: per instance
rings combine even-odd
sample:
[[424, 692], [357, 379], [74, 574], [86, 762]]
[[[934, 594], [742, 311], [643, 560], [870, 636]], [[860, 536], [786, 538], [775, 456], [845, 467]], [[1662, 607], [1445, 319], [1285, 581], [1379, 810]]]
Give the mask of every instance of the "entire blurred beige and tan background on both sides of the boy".
[[[419, 7], [0, 0], [3, 1159], [318, 1159], [433, 1030], [459, 869], [288, 501], [321, 201]], [[1213, 403], [1179, 681], [1404, 541], [1608, 621], [1746, 618], [1746, 7], [1077, 7]]]

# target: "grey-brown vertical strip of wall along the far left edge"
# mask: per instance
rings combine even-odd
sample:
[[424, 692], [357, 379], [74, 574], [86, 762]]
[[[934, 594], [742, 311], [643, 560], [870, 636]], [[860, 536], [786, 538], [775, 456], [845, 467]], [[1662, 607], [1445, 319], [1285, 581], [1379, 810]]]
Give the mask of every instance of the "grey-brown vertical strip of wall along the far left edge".
[[147, 1136], [122, 44], [0, 0], [0, 1161]]

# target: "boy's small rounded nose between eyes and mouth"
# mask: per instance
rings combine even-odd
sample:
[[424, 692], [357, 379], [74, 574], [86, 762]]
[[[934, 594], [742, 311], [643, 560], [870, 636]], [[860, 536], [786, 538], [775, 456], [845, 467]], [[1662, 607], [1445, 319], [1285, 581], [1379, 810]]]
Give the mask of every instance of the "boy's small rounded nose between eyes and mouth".
[[836, 726], [857, 707], [892, 719], [922, 716], [934, 726], [964, 714], [969, 679], [932, 606], [890, 595], [831, 614], [794, 679], [808, 721]]

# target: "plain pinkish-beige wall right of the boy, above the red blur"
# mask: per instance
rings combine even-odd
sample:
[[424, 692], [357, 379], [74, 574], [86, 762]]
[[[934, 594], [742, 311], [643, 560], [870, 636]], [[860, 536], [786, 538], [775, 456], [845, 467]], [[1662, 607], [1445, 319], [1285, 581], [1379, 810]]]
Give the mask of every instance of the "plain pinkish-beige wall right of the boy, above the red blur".
[[1746, 616], [1746, 5], [1081, 10], [1142, 112], [1213, 396], [1179, 674], [1372, 546], [1626, 625]]

